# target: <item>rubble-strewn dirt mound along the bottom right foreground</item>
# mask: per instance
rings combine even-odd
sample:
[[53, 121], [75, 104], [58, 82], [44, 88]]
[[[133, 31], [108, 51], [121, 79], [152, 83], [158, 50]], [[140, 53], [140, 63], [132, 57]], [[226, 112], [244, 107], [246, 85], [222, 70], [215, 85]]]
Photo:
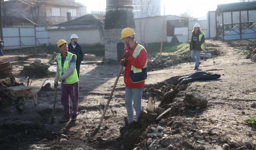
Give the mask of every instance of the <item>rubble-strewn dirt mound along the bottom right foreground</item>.
[[[191, 119], [191, 118], [190, 118]], [[183, 117], [172, 117], [161, 120], [159, 124], [162, 130], [158, 130], [159, 134], [150, 136], [155, 132], [156, 126], [148, 126], [144, 132], [144, 140], [140, 142], [134, 150], [173, 150], [173, 149], [190, 149], [205, 150], [212, 149], [252, 149], [252, 143], [244, 144], [235, 140], [228, 139], [224, 133], [216, 132], [215, 128], [204, 128], [201, 126], [202, 119], [193, 118], [190, 120]], [[205, 120], [207, 120], [205, 118]], [[178, 125], [177, 125], [178, 124]]]

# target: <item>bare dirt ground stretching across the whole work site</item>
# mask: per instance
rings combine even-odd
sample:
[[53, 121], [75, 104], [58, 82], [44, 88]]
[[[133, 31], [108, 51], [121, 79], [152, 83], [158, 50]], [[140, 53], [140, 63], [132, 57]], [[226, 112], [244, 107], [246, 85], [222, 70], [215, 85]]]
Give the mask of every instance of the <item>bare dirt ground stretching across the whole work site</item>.
[[[244, 122], [256, 114], [250, 107], [256, 101], [255, 62], [239, 55], [240, 49], [226, 42], [207, 40], [218, 46], [222, 54], [202, 60], [200, 70], [220, 74], [218, 80], [196, 81], [188, 84], [174, 99], [180, 104], [178, 116], [158, 122], [142, 121], [125, 125], [124, 80], [121, 76], [99, 132], [90, 135], [98, 126], [104, 107], [116, 80], [118, 64], [82, 64], [80, 69], [80, 115], [76, 122], [58, 123], [62, 117], [60, 103], [61, 90], [58, 87], [54, 124], [50, 123], [54, 99], [52, 90], [38, 93], [38, 106], [30, 98], [23, 111], [14, 106], [0, 110], [0, 145], [3, 150], [130, 150], [137, 149], [255, 149], [256, 129]], [[22, 65], [16, 65], [16, 72]], [[158, 84], [175, 76], [185, 76], [194, 72], [194, 62], [177, 64], [162, 70], [148, 72], [146, 85]], [[50, 71], [55, 67], [51, 66]], [[17, 74], [17, 73], [16, 73]], [[16, 76], [17, 82], [24, 82], [24, 76]], [[32, 86], [40, 86], [44, 79], [35, 79]], [[53, 78], [48, 80], [53, 85]], [[46, 83], [47, 83], [46, 82]], [[208, 106], [200, 109], [182, 106], [184, 95], [191, 92], [208, 100]], [[148, 95], [142, 98], [142, 108], [146, 110]], [[160, 100], [156, 102], [156, 106]], [[72, 104], [71, 104], [72, 105]], [[187, 118], [192, 118], [189, 121]], [[187, 120], [186, 120], [187, 119]], [[173, 121], [182, 121], [183, 127], [173, 128]], [[164, 127], [162, 136], [147, 136], [151, 127]], [[68, 136], [68, 139], [61, 137]], [[154, 143], [150, 141], [155, 141]], [[148, 144], [147, 144], [148, 142]], [[150, 146], [151, 144], [151, 146]], [[169, 147], [168, 147], [169, 146]]]

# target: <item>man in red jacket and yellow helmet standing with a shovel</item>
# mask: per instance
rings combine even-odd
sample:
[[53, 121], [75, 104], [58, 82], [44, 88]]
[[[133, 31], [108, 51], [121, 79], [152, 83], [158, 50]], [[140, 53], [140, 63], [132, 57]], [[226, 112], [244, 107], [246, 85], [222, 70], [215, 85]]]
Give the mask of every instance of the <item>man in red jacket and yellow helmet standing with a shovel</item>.
[[136, 120], [142, 111], [141, 99], [142, 89], [147, 78], [147, 52], [146, 49], [134, 40], [134, 30], [124, 28], [122, 30], [122, 40], [126, 44], [124, 48], [124, 59], [120, 64], [125, 66], [124, 83], [125, 83], [125, 106], [128, 114], [128, 123], [134, 121], [134, 109]]

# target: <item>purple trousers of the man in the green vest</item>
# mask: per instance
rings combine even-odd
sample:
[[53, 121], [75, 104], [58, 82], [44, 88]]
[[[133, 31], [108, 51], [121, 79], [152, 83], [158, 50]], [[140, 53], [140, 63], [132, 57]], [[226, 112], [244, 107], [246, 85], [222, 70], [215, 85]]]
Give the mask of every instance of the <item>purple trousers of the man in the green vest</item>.
[[79, 89], [78, 82], [73, 84], [61, 84], [61, 103], [64, 106], [64, 116], [70, 116], [69, 96], [73, 104], [73, 116], [78, 115]]

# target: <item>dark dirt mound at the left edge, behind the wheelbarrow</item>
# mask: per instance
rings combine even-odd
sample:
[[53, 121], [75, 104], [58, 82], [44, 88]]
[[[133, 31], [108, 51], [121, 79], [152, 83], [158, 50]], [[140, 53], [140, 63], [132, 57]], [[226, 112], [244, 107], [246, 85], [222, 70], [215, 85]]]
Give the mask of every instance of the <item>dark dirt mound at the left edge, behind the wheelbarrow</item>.
[[6, 88], [19, 85], [21, 84], [16, 82], [13, 74], [9, 74], [9, 76], [5, 77], [0, 77], [0, 108], [10, 106], [14, 102], [14, 97], [8, 94]]

